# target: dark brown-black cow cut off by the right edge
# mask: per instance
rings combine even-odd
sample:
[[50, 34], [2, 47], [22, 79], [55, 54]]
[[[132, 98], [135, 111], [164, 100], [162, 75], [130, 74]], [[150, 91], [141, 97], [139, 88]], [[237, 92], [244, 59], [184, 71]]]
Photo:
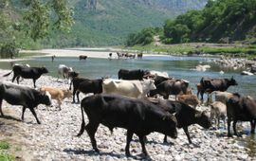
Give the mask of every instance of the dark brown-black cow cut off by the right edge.
[[236, 122], [249, 121], [251, 126], [251, 134], [255, 133], [256, 125], [256, 99], [249, 97], [241, 97], [235, 93], [227, 100], [227, 116], [228, 116], [228, 136], [230, 134], [230, 123], [233, 121], [233, 131], [236, 132]]

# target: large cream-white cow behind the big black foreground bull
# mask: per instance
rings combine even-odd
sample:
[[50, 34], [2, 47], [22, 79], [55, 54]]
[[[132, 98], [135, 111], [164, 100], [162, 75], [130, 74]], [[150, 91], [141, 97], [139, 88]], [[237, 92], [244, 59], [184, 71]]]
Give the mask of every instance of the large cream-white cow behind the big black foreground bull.
[[154, 80], [112, 80], [102, 82], [102, 91], [107, 94], [119, 94], [129, 98], [146, 98], [150, 90], [155, 89]]

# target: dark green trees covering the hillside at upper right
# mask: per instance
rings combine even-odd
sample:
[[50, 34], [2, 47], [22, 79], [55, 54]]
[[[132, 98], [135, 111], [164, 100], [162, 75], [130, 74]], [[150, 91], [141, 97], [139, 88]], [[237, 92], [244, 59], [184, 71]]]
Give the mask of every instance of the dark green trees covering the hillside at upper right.
[[[190, 10], [166, 20], [159, 34], [164, 44], [229, 43], [255, 38], [256, 0], [209, 0], [202, 10]], [[126, 45], [148, 45], [154, 35], [154, 30], [146, 34], [143, 29], [130, 34]]]

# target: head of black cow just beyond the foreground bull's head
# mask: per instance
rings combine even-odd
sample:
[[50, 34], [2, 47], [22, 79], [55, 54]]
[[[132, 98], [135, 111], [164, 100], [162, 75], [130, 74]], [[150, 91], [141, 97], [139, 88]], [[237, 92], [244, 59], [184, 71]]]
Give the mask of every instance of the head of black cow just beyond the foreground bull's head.
[[196, 123], [202, 126], [205, 129], [209, 129], [211, 126], [210, 115], [207, 114], [207, 111], [199, 112], [197, 111], [194, 115], [197, 120]]

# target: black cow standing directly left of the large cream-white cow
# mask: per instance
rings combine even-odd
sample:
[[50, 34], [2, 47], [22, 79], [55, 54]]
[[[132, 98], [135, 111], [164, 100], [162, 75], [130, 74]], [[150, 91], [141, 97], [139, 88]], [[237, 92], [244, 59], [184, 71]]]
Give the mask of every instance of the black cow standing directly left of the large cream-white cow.
[[77, 94], [78, 102], [80, 102], [79, 94], [101, 94], [102, 93], [102, 80], [89, 80], [76, 77], [71, 80], [69, 89], [71, 90], [71, 84], [73, 83], [73, 103], [76, 102], [75, 95]]

